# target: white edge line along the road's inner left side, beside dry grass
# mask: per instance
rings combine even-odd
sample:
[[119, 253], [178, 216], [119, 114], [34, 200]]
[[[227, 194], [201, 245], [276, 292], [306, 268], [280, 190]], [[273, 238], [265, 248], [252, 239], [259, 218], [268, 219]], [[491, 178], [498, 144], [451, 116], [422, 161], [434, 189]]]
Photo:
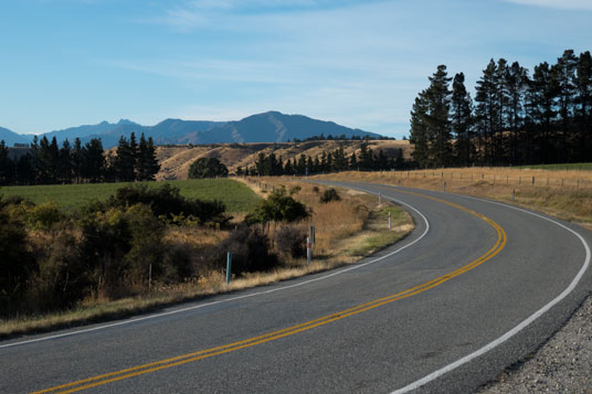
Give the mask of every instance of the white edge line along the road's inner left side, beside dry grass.
[[[358, 189], [358, 188], [350, 188], [350, 189], [357, 189], [357, 190], [360, 190], [360, 191], [363, 191], [363, 192], [367, 192], [367, 193], [371, 193], [371, 194], [378, 194], [378, 193], [374, 193], [372, 191], [369, 191], [369, 190], [363, 190], [363, 189]], [[383, 196], [385, 198], [385, 196]], [[415, 211], [415, 213], [417, 213], [422, 220], [425, 222], [425, 231], [422, 233], [422, 235], [414, 239], [413, 242], [398, 248], [397, 251], [393, 251], [384, 256], [381, 256], [379, 258], [374, 258], [373, 260], [370, 260], [370, 262], [367, 262], [367, 263], [362, 263], [362, 264], [358, 264], [353, 267], [349, 267], [349, 268], [345, 268], [345, 269], [341, 269], [341, 270], [338, 270], [338, 271], [335, 271], [335, 273], [331, 273], [331, 274], [328, 274], [328, 275], [325, 275], [325, 276], [321, 276], [321, 277], [318, 277], [318, 278], [315, 278], [315, 279], [309, 279], [309, 280], [305, 280], [305, 281], [302, 281], [302, 283], [298, 283], [298, 284], [295, 284], [295, 285], [289, 285], [289, 286], [283, 286], [283, 287], [279, 287], [279, 288], [275, 288], [275, 289], [269, 289], [269, 290], [265, 290], [265, 291], [257, 291], [257, 292], [252, 292], [252, 294], [249, 294], [249, 295], [243, 295], [243, 296], [237, 296], [237, 297], [232, 297], [232, 298], [226, 298], [226, 299], [222, 299], [222, 300], [218, 300], [218, 301], [212, 301], [212, 302], [208, 302], [208, 304], [200, 304], [200, 305], [197, 305], [197, 306], [193, 306], [193, 307], [188, 307], [188, 308], [182, 308], [182, 309], [176, 309], [176, 310], [171, 310], [171, 311], [168, 311], [168, 312], [161, 312], [161, 313], [157, 313], [157, 315], [150, 315], [150, 316], [145, 316], [145, 317], [141, 317], [141, 318], [136, 318], [136, 319], [131, 319], [131, 320], [125, 320], [125, 321], [119, 321], [119, 322], [116, 322], [116, 323], [110, 323], [110, 324], [103, 324], [103, 326], [99, 326], [99, 327], [93, 327], [93, 328], [89, 328], [89, 329], [84, 329], [84, 330], [78, 330], [78, 331], [73, 331], [73, 332], [64, 332], [64, 333], [61, 333], [61, 334], [55, 334], [55, 336], [49, 336], [49, 337], [42, 337], [42, 338], [35, 338], [35, 339], [30, 339], [30, 340], [27, 340], [27, 341], [20, 341], [20, 342], [13, 342], [13, 343], [6, 343], [6, 344], [0, 344], [0, 349], [2, 348], [12, 348], [12, 347], [18, 347], [18, 345], [22, 345], [22, 344], [28, 344], [28, 343], [33, 343], [33, 342], [42, 342], [42, 341], [47, 341], [47, 340], [51, 340], [51, 339], [57, 339], [57, 338], [64, 338], [64, 337], [72, 337], [72, 336], [77, 336], [77, 334], [81, 334], [81, 333], [86, 333], [86, 332], [92, 332], [92, 331], [98, 331], [98, 330], [104, 330], [104, 329], [107, 329], [107, 328], [113, 328], [113, 327], [117, 327], [117, 326], [124, 326], [124, 324], [129, 324], [129, 323], [134, 323], [134, 322], [137, 322], [137, 321], [142, 321], [142, 320], [148, 320], [148, 319], [155, 319], [155, 318], [160, 318], [160, 317], [163, 317], [163, 316], [169, 316], [169, 315], [175, 315], [175, 313], [180, 313], [180, 312], [186, 312], [186, 311], [189, 311], [189, 310], [193, 310], [193, 309], [200, 309], [200, 308], [204, 308], [204, 307], [210, 307], [212, 305], [216, 305], [216, 304], [223, 304], [223, 302], [230, 302], [230, 301], [235, 301], [235, 300], [239, 300], [239, 299], [244, 299], [244, 298], [250, 298], [250, 297], [255, 297], [255, 296], [261, 296], [261, 295], [266, 295], [266, 294], [269, 294], [269, 292], [275, 292], [275, 291], [281, 291], [281, 290], [287, 290], [287, 289], [290, 289], [290, 288], [294, 288], [294, 287], [299, 287], [299, 286], [304, 286], [304, 285], [308, 285], [308, 284], [311, 284], [314, 281], [318, 281], [318, 280], [324, 280], [324, 279], [327, 279], [327, 278], [330, 278], [330, 277], [334, 277], [336, 275], [339, 275], [339, 274], [343, 274], [343, 273], [347, 273], [347, 271], [350, 271], [350, 270], [353, 270], [353, 269], [358, 269], [358, 268], [361, 268], [361, 267], [364, 267], [367, 265], [370, 265], [370, 264], [374, 264], [377, 262], [380, 262], [387, 257], [390, 257], [390, 256], [393, 256], [395, 254], [398, 254], [399, 252], [402, 252], [404, 249], [406, 249], [408, 247], [416, 244], [417, 242], [420, 242], [426, 234], [427, 232], [430, 231], [430, 222], [427, 222], [427, 219], [419, 211], [416, 210], [415, 207], [411, 206], [410, 204], [408, 203], [404, 203], [402, 201], [399, 201], [399, 200], [395, 200], [395, 199], [392, 199], [392, 198], [385, 198], [388, 200], [391, 200], [393, 202], [397, 202], [398, 204], [401, 204], [401, 205], [405, 205], [408, 206], [409, 209]]]

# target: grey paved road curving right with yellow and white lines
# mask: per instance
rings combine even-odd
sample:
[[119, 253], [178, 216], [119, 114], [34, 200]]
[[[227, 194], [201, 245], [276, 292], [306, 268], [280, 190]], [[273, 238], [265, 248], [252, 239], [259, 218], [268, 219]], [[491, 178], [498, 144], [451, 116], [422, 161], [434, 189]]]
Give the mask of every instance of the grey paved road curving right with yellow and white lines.
[[345, 269], [0, 342], [0, 392], [472, 392], [592, 288], [582, 228], [459, 195], [353, 187], [409, 204], [413, 233]]

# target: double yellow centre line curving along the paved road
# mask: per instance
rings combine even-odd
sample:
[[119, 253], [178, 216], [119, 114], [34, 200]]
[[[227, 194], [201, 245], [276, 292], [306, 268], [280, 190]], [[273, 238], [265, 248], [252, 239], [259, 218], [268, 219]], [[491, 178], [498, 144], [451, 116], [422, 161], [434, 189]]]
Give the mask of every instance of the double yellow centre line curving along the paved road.
[[[395, 189], [394, 187], [387, 187], [387, 188]], [[432, 280], [426, 281], [426, 283], [424, 283], [422, 285], [409, 288], [406, 290], [397, 292], [394, 295], [387, 296], [387, 297], [383, 297], [383, 298], [379, 298], [379, 299], [376, 299], [373, 301], [366, 302], [366, 304], [359, 305], [359, 306], [353, 307], [353, 308], [349, 308], [349, 309], [346, 309], [346, 310], [342, 310], [342, 311], [339, 311], [339, 312], [336, 312], [336, 313], [327, 315], [327, 316], [324, 316], [321, 318], [310, 320], [310, 321], [307, 321], [307, 322], [304, 322], [304, 323], [300, 323], [300, 324], [288, 327], [288, 328], [285, 328], [285, 329], [278, 330], [278, 331], [273, 331], [273, 332], [269, 332], [269, 333], [266, 333], [266, 334], [253, 337], [253, 338], [245, 339], [245, 340], [242, 340], [242, 341], [233, 342], [233, 343], [230, 343], [230, 344], [225, 344], [225, 345], [221, 345], [221, 347], [216, 347], [216, 348], [211, 348], [211, 349], [205, 349], [205, 350], [200, 350], [200, 351], [193, 352], [193, 353], [177, 355], [177, 356], [173, 356], [173, 358], [170, 358], [170, 359], [156, 361], [156, 362], [148, 363], [148, 364], [137, 365], [137, 366], [133, 366], [133, 368], [129, 368], [129, 369], [125, 369], [125, 370], [120, 370], [120, 371], [116, 371], [116, 372], [106, 373], [106, 374], [103, 374], [103, 375], [97, 375], [97, 376], [80, 380], [80, 381], [76, 381], [76, 382], [62, 384], [62, 385], [54, 386], [54, 387], [51, 387], [51, 388], [38, 391], [38, 392], [34, 392], [34, 393], [31, 393], [31, 394], [73, 393], [73, 392], [77, 392], [77, 391], [82, 391], [82, 390], [104, 385], [104, 384], [107, 384], [107, 383], [117, 382], [117, 381], [121, 381], [121, 380], [125, 380], [125, 379], [147, 374], [147, 373], [150, 373], [150, 372], [156, 372], [156, 371], [169, 369], [169, 368], [172, 368], [172, 366], [182, 365], [182, 364], [186, 364], [186, 363], [189, 363], [189, 362], [203, 360], [203, 359], [211, 358], [211, 356], [214, 356], [214, 355], [224, 354], [224, 353], [233, 352], [233, 351], [245, 349], [245, 348], [251, 348], [251, 347], [254, 347], [256, 344], [274, 341], [276, 339], [281, 339], [281, 338], [284, 338], [284, 337], [287, 337], [287, 336], [293, 336], [293, 334], [298, 333], [298, 332], [307, 331], [307, 330], [314, 329], [316, 327], [325, 326], [325, 324], [328, 324], [330, 322], [341, 320], [341, 319], [345, 319], [347, 317], [351, 317], [351, 316], [368, 311], [370, 309], [374, 309], [374, 308], [378, 308], [380, 306], [391, 304], [391, 302], [394, 302], [397, 300], [408, 298], [408, 297], [414, 296], [416, 294], [423, 292], [425, 290], [429, 290], [431, 288], [434, 288], [436, 286], [440, 286], [443, 283], [445, 283], [445, 281], [447, 281], [447, 280], [450, 280], [452, 278], [455, 278], [458, 275], [462, 275], [462, 274], [464, 274], [464, 273], [477, 267], [478, 265], [489, 260], [490, 258], [496, 256], [499, 252], [501, 252], [501, 249], [504, 249], [504, 247], [506, 246], [506, 242], [507, 242], [506, 232], [504, 231], [504, 228], [501, 228], [501, 226], [499, 224], [497, 224], [496, 222], [494, 222], [489, 217], [487, 217], [487, 216], [485, 216], [485, 215], [483, 215], [483, 214], [480, 214], [478, 212], [475, 212], [473, 210], [469, 210], [467, 207], [464, 207], [462, 205], [458, 205], [458, 204], [455, 204], [455, 203], [452, 203], [452, 202], [448, 202], [448, 201], [445, 201], [445, 200], [441, 200], [441, 199], [437, 199], [437, 198], [434, 198], [434, 196], [420, 194], [420, 193], [415, 193], [415, 192], [410, 192], [410, 191], [402, 191], [400, 189], [397, 189], [397, 191], [401, 192], [401, 193], [419, 195], [419, 196], [422, 196], [422, 198], [425, 198], [425, 199], [430, 199], [430, 200], [433, 200], [433, 201], [437, 201], [437, 202], [454, 206], [456, 209], [465, 211], [465, 212], [467, 212], [467, 213], [469, 213], [469, 214], [472, 214], [472, 215], [485, 221], [487, 224], [489, 224], [491, 227], [494, 227], [494, 230], [497, 233], [497, 241], [496, 241], [495, 245], [489, 251], [487, 251], [483, 256], [477, 258], [476, 260], [474, 260], [474, 262], [472, 262], [472, 263], [469, 263], [469, 264], [467, 264], [467, 265], [465, 265], [465, 266], [463, 266], [461, 268], [457, 268], [457, 269], [453, 270], [452, 273], [442, 275], [442, 276], [440, 276], [440, 277], [437, 277], [435, 279], [432, 279]]]

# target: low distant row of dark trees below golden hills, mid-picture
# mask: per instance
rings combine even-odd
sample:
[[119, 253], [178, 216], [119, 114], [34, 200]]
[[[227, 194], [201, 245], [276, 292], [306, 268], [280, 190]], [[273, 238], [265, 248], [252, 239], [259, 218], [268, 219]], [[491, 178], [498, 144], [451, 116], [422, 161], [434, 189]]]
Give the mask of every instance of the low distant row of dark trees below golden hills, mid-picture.
[[399, 149], [395, 157], [388, 157], [382, 150], [374, 155], [372, 148], [367, 142], [360, 145], [360, 152], [347, 156], [343, 147], [334, 151], [323, 151], [315, 158], [302, 153], [298, 158], [284, 161], [274, 152], [268, 156], [263, 152], [258, 155], [254, 167], [239, 168], [237, 175], [306, 175], [311, 173], [339, 172], [348, 170], [391, 170], [403, 169], [406, 163], [403, 160], [403, 151]]

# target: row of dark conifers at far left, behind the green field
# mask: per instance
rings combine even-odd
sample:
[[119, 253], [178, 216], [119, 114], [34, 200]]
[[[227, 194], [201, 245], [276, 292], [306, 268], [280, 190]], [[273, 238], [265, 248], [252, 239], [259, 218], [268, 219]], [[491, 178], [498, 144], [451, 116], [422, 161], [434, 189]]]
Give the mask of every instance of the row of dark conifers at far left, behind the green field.
[[160, 164], [156, 158], [152, 138], [141, 134], [139, 143], [131, 132], [123, 136], [114, 152], [105, 152], [99, 138], [71, 145], [65, 139], [60, 147], [55, 137], [33, 138], [29, 150], [10, 158], [4, 141], [0, 141], [0, 184], [56, 184], [131, 182], [155, 179]]

